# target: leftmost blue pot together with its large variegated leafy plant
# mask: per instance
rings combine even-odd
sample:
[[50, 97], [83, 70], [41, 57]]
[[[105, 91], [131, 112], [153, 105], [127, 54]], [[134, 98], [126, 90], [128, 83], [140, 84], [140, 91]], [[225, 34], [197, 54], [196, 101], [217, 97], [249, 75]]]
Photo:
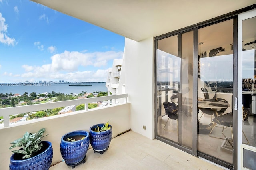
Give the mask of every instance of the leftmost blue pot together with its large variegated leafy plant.
[[[9, 169], [33, 169], [48, 170], [52, 163], [52, 143], [41, 141], [45, 128], [40, 129], [37, 133], [26, 132], [22, 138], [13, 141], [9, 149], [22, 147], [19, 150], [13, 150]], [[47, 136], [47, 135], [45, 135]]]

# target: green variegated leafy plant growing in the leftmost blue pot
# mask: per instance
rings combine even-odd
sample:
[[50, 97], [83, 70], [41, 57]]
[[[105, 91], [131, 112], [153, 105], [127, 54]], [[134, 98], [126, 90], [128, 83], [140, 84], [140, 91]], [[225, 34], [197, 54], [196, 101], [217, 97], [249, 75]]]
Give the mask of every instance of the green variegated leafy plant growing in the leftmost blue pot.
[[[13, 153], [23, 154], [23, 159], [34, 157], [36, 152], [42, 149], [43, 144], [41, 143], [42, 136], [45, 132], [45, 128], [40, 129], [37, 133], [26, 132], [22, 138], [13, 141], [9, 149], [22, 147], [20, 150], [13, 150]], [[48, 134], [47, 134], [48, 135]], [[47, 136], [45, 135], [45, 136]], [[42, 136], [42, 137], [41, 137]]]

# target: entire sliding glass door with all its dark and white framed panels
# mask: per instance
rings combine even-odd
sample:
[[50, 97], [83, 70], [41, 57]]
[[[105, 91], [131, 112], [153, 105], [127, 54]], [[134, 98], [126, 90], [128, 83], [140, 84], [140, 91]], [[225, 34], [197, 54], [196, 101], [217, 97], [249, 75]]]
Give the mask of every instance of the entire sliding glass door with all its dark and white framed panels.
[[156, 38], [156, 138], [256, 167], [256, 10]]

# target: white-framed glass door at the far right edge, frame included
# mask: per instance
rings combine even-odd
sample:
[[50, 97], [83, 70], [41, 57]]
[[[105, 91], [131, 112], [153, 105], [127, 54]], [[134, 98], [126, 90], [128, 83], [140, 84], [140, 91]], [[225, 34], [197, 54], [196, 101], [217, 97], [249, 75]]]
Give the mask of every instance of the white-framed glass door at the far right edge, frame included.
[[238, 15], [238, 99], [238, 167], [255, 169], [256, 10]]

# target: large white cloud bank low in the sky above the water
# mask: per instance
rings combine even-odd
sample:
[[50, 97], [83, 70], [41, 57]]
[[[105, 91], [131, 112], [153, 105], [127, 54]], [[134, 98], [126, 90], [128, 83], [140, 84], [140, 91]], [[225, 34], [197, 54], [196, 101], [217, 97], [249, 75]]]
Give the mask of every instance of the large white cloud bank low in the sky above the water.
[[[40, 42], [35, 42], [40, 45]], [[20, 75], [26, 80], [44, 81], [64, 79], [70, 82], [82, 81], [106, 81], [109, 73], [108, 69], [96, 69], [95, 66], [106, 65], [108, 61], [122, 58], [123, 52], [106, 51], [94, 53], [80, 53], [77, 51], [64, 51], [64, 53], [55, 54], [51, 57], [52, 63], [30, 66], [22, 65], [25, 73]], [[84, 67], [85, 71], [78, 71], [78, 67]], [[87, 66], [94, 66], [95, 69], [86, 70]], [[5, 75], [8, 75], [6, 73]], [[9, 75], [14, 77], [14, 75]], [[30, 81], [33, 82], [33, 81]]]

